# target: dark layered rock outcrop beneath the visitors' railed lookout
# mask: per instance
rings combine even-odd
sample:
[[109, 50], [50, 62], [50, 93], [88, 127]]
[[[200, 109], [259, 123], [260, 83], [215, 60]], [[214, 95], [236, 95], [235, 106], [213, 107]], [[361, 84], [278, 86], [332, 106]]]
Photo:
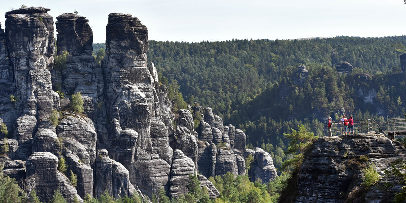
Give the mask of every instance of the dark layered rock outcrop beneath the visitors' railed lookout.
[[382, 134], [321, 137], [300, 168], [296, 201], [343, 202], [362, 183], [362, 169], [368, 162], [382, 171], [396, 156], [392, 141]]

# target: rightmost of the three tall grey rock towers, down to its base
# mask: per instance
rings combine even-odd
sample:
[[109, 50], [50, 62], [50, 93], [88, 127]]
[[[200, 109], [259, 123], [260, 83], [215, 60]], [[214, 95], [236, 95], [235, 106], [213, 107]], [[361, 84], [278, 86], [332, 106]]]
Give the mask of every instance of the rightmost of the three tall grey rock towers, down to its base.
[[[167, 120], [161, 119], [170, 118], [169, 112], [160, 110], [166, 101], [159, 101], [162, 96], [157, 92], [162, 91], [157, 91], [160, 87], [154, 79], [154, 69], [147, 66], [148, 29], [137, 17], [112, 13], [106, 34], [106, 57], [102, 68], [110, 123], [108, 140], [112, 143], [123, 135], [122, 132], [138, 134], [132, 143], [110, 144], [109, 154], [118, 157], [117, 161], [129, 170], [131, 183], [142, 193], [152, 196], [168, 184], [171, 150], [169, 143], [163, 142], [170, 131], [164, 127]], [[132, 156], [119, 156], [123, 150]]]

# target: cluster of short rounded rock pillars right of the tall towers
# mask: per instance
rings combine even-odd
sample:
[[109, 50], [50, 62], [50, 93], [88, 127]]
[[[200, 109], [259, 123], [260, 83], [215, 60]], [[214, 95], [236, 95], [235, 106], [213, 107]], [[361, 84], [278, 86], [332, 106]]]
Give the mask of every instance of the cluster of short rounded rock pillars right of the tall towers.
[[223, 120], [206, 107], [198, 129], [197, 169], [206, 176], [227, 172], [244, 175], [245, 134], [233, 125], [224, 126]]

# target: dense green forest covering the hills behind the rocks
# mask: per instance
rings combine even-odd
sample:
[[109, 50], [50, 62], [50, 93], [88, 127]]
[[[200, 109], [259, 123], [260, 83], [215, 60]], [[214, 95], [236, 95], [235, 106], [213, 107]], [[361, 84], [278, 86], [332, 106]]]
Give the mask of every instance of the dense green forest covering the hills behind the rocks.
[[[264, 148], [279, 168], [289, 158], [283, 153], [288, 142], [283, 133], [292, 127], [304, 124], [320, 136], [324, 119], [338, 120], [342, 110], [356, 120], [403, 116], [405, 75], [400, 73], [399, 55], [406, 52], [405, 45], [406, 36], [150, 40], [148, 60], [171, 91], [178, 90], [189, 103], [212, 107], [225, 124], [243, 129], [248, 147]], [[99, 51], [104, 44], [94, 47]], [[353, 65], [352, 73], [335, 70], [343, 61]], [[298, 84], [301, 76], [296, 71], [301, 64], [309, 72]], [[365, 102], [371, 91], [372, 102]]]

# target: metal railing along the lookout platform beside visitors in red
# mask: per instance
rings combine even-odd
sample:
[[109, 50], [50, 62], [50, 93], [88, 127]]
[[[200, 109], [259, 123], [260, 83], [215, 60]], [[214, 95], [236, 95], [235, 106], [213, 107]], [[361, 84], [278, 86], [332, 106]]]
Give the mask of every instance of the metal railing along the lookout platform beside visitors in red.
[[[349, 121], [348, 121], [349, 122]], [[329, 136], [327, 123], [323, 123], [324, 136]], [[376, 122], [374, 119], [354, 120], [354, 130], [352, 133], [368, 133], [371, 131], [384, 134], [391, 139], [406, 138], [406, 120], [405, 118], [392, 118], [387, 122]], [[350, 134], [350, 129], [343, 125], [343, 122], [331, 123], [332, 136]]]

